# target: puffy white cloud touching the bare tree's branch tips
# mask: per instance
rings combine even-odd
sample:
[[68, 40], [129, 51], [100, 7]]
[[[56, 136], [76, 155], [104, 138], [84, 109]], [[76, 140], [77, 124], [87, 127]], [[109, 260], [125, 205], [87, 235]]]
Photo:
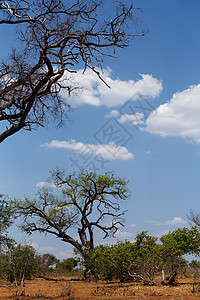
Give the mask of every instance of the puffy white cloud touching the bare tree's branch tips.
[[[98, 70], [102, 73], [100, 70]], [[75, 74], [66, 73], [66, 79], [70, 80], [72, 86], [80, 86], [82, 90], [78, 95], [69, 97], [67, 91], [63, 89], [62, 96], [71, 105], [89, 104], [93, 106], [105, 105], [114, 107], [124, 104], [127, 100], [136, 100], [139, 96], [155, 98], [162, 91], [162, 82], [152, 75], [140, 74], [141, 79], [120, 80], [111, 78], [112, 70], [107, 68], [101, 74], [108, 88], [92, 70], [88, 69], [83, 74], [83, 70], [78, 70]]]

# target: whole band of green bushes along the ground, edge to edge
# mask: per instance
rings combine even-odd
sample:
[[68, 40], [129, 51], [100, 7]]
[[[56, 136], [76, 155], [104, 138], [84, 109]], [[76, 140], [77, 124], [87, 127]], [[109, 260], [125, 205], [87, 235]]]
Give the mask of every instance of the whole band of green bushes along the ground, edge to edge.
[[[179, 277], [199, 279], [199, 249], [200, 235], [196, 227], [179, 228], [159, 240], [141, 232], [133, 242], [99, 245], [83, 253], [76, 250], [74, 257], [62, 261], [53, 254], [39, 254], [31, 245], [9, 239], [1, 245], [0, 277], [20, 286], [24, 280], [59, 276], [173, 286]], [[186, 254], [193, 254], [196, 259], [188, 260]], [[91, 272], [90, 278], [85, 278], [86, 269]]]

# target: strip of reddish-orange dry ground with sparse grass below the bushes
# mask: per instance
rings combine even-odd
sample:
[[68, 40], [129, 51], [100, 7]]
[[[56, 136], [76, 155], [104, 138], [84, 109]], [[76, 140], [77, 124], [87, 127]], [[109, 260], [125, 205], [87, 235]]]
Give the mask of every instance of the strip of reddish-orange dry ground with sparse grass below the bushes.
[[2, 283], [0, 299], [200, 299], [200, 289], [198, 291], [197, 285], [193, 284], [193, 279], [179, 280], [174, 287], [119, 282], [69, 282], [65, 279], [57, 282], [35, 279], [26, 281], [23, 288]]

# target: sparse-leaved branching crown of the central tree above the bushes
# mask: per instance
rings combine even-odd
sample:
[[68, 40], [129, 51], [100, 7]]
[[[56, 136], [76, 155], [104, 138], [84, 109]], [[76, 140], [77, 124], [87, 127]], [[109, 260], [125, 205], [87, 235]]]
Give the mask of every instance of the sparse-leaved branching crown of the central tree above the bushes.
[[[94, 248], [94, 229], [104, 238], [114, 236], [118, 226], [124, 224], [119, 199], [129, 198], [127, 181], [113, 173], [104, 175], [83, 171], [78, 175], [65, 175], [62, 170], [52, 172], [54, 184], [62, 188], [62, 196], [48, 190], [39, 190], [34, 199], [17, 201], [16, 207], [23, 217], [22, 229], [53, 234], [74, 246], [80, 253]], [[69, 234], [76, 229], [79, 240]]]

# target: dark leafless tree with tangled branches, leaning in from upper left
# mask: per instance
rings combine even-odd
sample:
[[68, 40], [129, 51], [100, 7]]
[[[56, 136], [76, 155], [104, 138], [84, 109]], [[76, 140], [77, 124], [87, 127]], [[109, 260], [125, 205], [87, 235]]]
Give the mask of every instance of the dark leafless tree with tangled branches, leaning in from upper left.
[[105, 57], [145, 35], [137, 31], [138, 8], [116, 2], [108, 20], [101, 8], [101, 0], [0, 1], [0, 25], [17, 26], [21, 42], [0, 64], [0, 142], [52, 120], [62, 124], [69, 106], [60, 92], [78, 88], [70, 74], [82, 66], [103, 80], [97, 67]]

